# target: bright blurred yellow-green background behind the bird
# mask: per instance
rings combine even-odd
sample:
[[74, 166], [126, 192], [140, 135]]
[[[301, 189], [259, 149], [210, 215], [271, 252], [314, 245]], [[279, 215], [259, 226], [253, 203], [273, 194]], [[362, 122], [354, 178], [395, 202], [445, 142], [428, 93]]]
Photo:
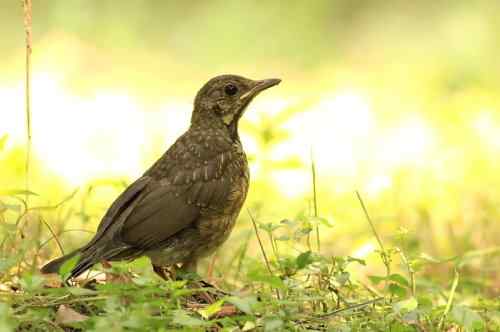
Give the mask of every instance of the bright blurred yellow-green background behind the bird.
[[[355, 190], [384, 240], [404, 238], [410, 251], [442, 258], [497, 246], [499, 17], [494, 0], [35, 0], [31, 204], [78, 188], [45, 219], [67, 249], [82, 244], [91, 234], [68, 230], [95, 230], [187, 128], [205, 81], [280, 77], [240, 124], [246, 207], [260, 222], [313, 214], [312, 155], [319, 215], [333, 225], [321, 231], [325, 253], [374, 256]], [[1, 1], [0, 22], [0, 188], [19, 189], [18, 1]], [[4, 204], [15, 213], [15, 201]], [[245, 211], [220, 252], [249, 236]], [[26, 234], [43, 243], [38, 225]], [[57, 254], [53, 241], [45, 248], [41, 261]], [[484, 273], [500, 282], [498, 268]]]

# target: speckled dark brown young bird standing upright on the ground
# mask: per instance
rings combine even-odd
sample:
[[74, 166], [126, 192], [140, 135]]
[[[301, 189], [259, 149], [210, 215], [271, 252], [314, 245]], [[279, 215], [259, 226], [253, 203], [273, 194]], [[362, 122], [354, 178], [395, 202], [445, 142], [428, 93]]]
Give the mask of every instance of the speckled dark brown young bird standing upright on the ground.
[[172, 146], [111, 204], [93, 238], [41, 268], [57, 273], [74, 259], [66, 280], [99, 262], [151, 260], [197, 272], [199, 259], [229, 237], [249, 187], [238, 123], [249, 103], [280, 79], [219, 75], [196, 94], [191, 124]]

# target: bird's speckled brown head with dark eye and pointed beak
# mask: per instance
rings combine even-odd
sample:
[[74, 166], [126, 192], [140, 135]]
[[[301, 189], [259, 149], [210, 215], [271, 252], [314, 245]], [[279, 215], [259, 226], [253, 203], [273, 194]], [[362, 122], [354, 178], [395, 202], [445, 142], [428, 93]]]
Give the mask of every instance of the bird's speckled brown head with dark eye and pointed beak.
[[216, 122], [236, 133], [238, 120], [252, 99], [280, 82], [277, 78], [254, 81], [237, 75], [216, 76], [198, 91], [191, 123]]

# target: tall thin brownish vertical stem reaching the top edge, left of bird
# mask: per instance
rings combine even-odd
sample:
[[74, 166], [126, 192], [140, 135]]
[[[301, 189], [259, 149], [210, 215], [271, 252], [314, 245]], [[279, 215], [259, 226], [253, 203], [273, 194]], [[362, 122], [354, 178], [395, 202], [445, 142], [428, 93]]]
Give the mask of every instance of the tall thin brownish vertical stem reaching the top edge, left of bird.
[[30, 163], [31, 163], [31, 0], [23, 0], [24, 31], [26, 33], [26, 77], [25, 77], [25, 103], [26, 103], [26, 162], [25, 162], [25, 187], [26, 202], [29, 202], [30, 190]]

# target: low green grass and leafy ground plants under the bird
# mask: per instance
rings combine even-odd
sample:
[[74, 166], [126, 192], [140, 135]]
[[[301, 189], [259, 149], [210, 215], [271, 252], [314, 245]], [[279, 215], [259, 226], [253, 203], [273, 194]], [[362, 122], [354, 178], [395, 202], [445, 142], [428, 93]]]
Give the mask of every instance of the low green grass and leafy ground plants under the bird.
[[[249, 240], [258, 241], [261, 257], [252, 255], [246, 241], [233, 258], [215, 261], [218, 272], [212, 278], [227, 294], [215, 292], [209, 300], [203, 294], [212, 289], [165, 282], [145, 258], [98, 268], [105, 281], [97, 275], [70, 286], [57, 276], [40, 275], [42, 256], [49, 252], [42, 238], [54, 239], [51, 247], [63, 251], [58, 237], [64, 228], [51, 226], [51, 216], [69, 209], [74, 194], [45, 207], [25, 204], [23, 197], [32, 192], [1, 194], [0, 327], [5, 331], [500, 330], [500, 301], [487, 297], [488, 281], [478, 285], [470, 265], [498, 255], [499, 248], [439, 260], [384, 244], [359, 193], [367, 227], [380, 245], [381, 263], [375, 264], [383, 265], [385, 275], [359, 275], [353, 272], [357, 267], [378, 267], [309, 250], [310, 233], [331, 227], [315, 212], [262, 223], [249, 210], [254, 228]], [[439, 270], [455, 271], [453, 280], [440, 280], [433, 272]], [[484, 291], [475, 294], [478, 287]]]

